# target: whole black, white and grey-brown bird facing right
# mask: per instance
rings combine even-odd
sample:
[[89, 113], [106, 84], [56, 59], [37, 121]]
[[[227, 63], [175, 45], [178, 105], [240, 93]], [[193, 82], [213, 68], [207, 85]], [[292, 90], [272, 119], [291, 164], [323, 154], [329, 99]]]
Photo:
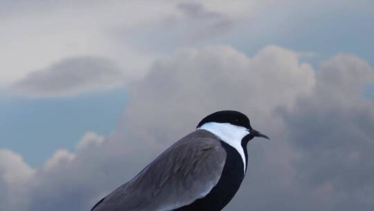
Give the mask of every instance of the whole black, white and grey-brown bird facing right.
[[244, 179], [254, 137], [269, 140], [242, 112], [213, 112], [91, 211], [222, 210]]

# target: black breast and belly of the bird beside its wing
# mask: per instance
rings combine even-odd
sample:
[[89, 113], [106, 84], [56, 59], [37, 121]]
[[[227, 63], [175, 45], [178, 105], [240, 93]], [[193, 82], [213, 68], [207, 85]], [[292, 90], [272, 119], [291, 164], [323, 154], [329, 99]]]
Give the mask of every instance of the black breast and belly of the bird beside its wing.
[[[218, 211], [222, 210], [224, 206], [233, 199], [233, 196], [238, 191], [242, 180], [244, 179], [244, 164], [242, 157], [233, 146], [221, 141], [222, 146], [226, 151], [226, 162], [222, 171], [222, 176], [217, 185], [211, 189], [204, 198], [197, 199], [189, 205], [175, 209], [175, 211]], [[247, 159], [247, 148], [244, 147], [245, 157]]]

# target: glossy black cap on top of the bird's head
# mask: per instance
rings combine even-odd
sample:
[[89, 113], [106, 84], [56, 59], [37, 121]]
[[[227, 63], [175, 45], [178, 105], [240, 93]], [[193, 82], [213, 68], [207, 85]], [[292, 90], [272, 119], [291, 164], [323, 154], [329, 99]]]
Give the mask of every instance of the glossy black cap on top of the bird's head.
[[246, 115], [235, 110], [221, 110], [208, 115], [202, 121], [199, 122], [196, 128], [199, 128], [207, 122], [217, 122], [217, 123], [229, 123], [235, 126], [242, 126], [251, 130], [251, 124], [249, 124], [249, 119]]

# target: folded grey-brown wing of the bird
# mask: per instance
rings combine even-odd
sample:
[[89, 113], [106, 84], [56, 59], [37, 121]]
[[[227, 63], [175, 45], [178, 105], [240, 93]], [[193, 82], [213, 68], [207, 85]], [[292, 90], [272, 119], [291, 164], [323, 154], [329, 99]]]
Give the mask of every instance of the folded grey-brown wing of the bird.
[[218, 183], [225, 159], [220, 140], [206, 130], [196, 130], [170, 146], [93, 210], [161, 211], [188, 205]]

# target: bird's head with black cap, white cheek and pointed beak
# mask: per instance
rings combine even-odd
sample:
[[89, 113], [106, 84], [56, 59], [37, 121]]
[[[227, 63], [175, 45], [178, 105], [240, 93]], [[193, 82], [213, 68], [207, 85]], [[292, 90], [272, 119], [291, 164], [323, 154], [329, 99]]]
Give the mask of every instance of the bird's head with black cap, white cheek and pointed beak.
[[197, 124], [197, 129], [207, 129], [217, 131], [223, 135], [237, 135], [241, 137], [242, 142], [249, 142], [254, 137], [263, 137], [264, 135], [251, 127], [249, 119], [246, 115], [235, 110], [222, 110], [208, 115]]

